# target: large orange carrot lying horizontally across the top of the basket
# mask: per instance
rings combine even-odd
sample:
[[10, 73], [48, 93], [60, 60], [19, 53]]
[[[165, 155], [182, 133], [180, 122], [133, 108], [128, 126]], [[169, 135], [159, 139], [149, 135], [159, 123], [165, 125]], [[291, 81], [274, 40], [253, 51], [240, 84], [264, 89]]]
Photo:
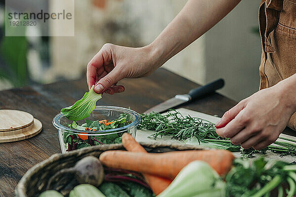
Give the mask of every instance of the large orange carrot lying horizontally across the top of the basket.
[[[218, 174], [226, 174], [234, 157], [227, 150], [190, 150], [167, 153], [135, 153], [128, 151], [105, 151], [100, 155], [102, 164], [142, 173], [162, 176], [173, 180], [180, 170], [192, 161], [208, 163]], [[120, 161], [120, 162], [118, 162]]]

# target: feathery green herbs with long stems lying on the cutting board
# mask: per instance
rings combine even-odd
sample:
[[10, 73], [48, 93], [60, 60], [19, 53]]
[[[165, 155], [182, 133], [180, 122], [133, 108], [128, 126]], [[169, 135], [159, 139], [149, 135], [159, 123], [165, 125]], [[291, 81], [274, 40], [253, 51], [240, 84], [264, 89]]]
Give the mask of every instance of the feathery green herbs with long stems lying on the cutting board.
[[[197, 140], [200, 145], [217, 149], [226, 149], [232, 152], [241, 152], [244, 158], [251, 158], [254, 154], [264, 154], [267, 150], [283, 155], [296, 155], [296, 140], [279, 137], [285, 142], [274, 142], [267, 148], [257, 151], [253, 148], [242, 149], [240, 145], [234, 145], [229, 138], [222, 138], [216, 133], [215, 124], [207, 120], [183, 116], [180, 112], [172, 109], [166, 114], [152, 112], [141, 114], [142, 121], [138, 129], [156, 131], [151, 135], [154, 139], [158, 136], [170, 135], [177, 140]], [[294, 142], [294, 143], [291, 143]]]

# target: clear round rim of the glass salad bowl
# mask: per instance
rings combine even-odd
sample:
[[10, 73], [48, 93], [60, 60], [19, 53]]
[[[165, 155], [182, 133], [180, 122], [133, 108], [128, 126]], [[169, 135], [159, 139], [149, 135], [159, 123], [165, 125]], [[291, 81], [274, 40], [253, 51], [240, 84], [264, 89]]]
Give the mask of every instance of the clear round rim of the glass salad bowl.
[[59, 122], [59, 120], [60, 120], [60, 118], [64, 117], [64, 114], [59, 113], [52, 119], [52, 124], [56, 129], [61, 130], [63, 132], [71, 132], [71, 133], [74, 133], [74, 134], [81, 134], [81, 132], [83, 132], [83, 135], [103, 135], [103, 134], [114, 134], [114, 133], [119, 133], [119, 132], [123, 132], [123, 131], [133, 129], [133, 128], [137, 127], [141, 122], [141, 115], [139, 113], [135, 112], [134, 110], [131, 110], [131, 109], [127, 109], [127, 108], [124, 108], [124, 107], [117, 107], [117, 106], [100, 105], [100, 106], [96, 106], [94, 110], [100, 110], [100, 109], [120, 110], [120, 111], [123, 111], [125, 113], [131, 114], [132, 116], [135, 117], [135, 120], [131, 124], [128, 124], [128, 125], [126, 125], [124, 127], [111, 129], [111, 130], [101, 130], [101, 131], [95, 131], [94, 132], [94, 131], [85, 131], [85, 130], [74, 130], [74, 129], [71, 129], [69, 127], [63, 126]]

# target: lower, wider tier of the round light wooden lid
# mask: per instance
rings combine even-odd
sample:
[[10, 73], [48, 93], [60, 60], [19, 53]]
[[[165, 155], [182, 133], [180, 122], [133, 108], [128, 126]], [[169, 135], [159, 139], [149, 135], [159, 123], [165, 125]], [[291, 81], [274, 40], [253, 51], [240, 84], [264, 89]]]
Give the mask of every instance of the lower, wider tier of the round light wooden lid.
[[42, 123], [34, 118], [33, 124], [14, 131], [0, 131], [0, 143], [19, 141], [37, 135], [42, 130]]

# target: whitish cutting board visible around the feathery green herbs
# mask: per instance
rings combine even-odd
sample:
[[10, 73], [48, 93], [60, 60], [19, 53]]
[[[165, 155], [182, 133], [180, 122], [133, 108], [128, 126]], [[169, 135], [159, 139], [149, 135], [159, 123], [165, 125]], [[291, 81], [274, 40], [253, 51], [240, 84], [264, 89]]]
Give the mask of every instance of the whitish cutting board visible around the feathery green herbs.
[[[190, 110], [190, 109], [179, 108], [179, 109], [177, 109], [177, 111], [179, 111], [183, 116], [190, 115], [191, 117], [202, 118], [202, 119], [210, 121], [212, 123], [216, 123], [216, 122], [218, 122], [220, 120], [219, 117], [211, 116], [209, 114], [204, 114], [204, 113], [193, 111], [193, 110]], [[186, 144], [186, 142], [184, 142], [184, 141], [178, 141], [178, 140], [171, 139], [171, 136], [158, 137], [156, 140], [154, 140], [153, 138], [149, 137], [154, 132], [155, 131], [137, 130], [136, 140], [138, 142], [154, 142], [154, 143], [155, 142], [165, 142], [165, 143], [171, 143], [171, 144], [175, 144], [175, 143], [177, 143], [177, 144]], [[280, 136], [296, 140], [296, 137], [291, 136], [291, 135], [281, 134]], [[278, 139], [277, 141], [284, 141], [284, 140]], [[194, 145], [194, 146], [197, 146], [197, 147], [204, 147], [204, 146], [199, 145], [196, 142], [189, 142], [187, 144]], [[234, 154], [235, 157], [240, 157], [239, 152], [236, 152], [236, 153], [233, 153], [233, 154]], [[289, 162], [289, 163], [296, 161], [296, 157], [292, 157], [292, 156], [280, 157], [280, 154], [272, 153], [270, 151], [267, 151], [267, 153], [264, 156], [265, 156], [265, 158], [267, 160], [276, 159], [276, 160], [282, 160], [282, 161]], [[260, 157], [260, 155], [256, 154], [255, 158], [256, 157]]]

